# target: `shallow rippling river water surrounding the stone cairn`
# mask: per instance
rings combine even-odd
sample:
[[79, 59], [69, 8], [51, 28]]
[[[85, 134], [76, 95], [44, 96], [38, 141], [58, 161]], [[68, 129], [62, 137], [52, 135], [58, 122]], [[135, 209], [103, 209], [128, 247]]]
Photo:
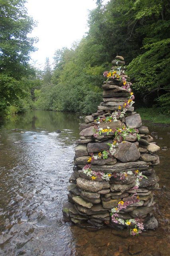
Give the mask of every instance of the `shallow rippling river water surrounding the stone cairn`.
[[[154, 193], [159, 227], [131, 237], [126, 230], [91, 230], [63, 221], [80, 122], [73, 113], [35, 111], [0, 124], [0, 255], [128, 256], [134, 245], [140, 256], [169, 256], [170, 128], [144, 123], [168, 149], [160, 150], [155, 168], [162, 188]], [[19, 140], [23, 143], [14, 143]]]

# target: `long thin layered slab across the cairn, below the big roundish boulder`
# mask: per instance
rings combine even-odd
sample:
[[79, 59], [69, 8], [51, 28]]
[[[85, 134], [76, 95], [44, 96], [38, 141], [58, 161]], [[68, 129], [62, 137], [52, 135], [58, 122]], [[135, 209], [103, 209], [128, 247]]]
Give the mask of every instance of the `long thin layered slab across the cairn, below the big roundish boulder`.
[[102, 171], [102, 172], [121, 172], [124, 170], [133, 171], [133, 170], [146, 170], [149, 168], [149, 164], [144, 161], [136, 161], [136, 162], [127, 162], [127, 163], [116, 163], [114, 165], [92, 165], [92, 171]]

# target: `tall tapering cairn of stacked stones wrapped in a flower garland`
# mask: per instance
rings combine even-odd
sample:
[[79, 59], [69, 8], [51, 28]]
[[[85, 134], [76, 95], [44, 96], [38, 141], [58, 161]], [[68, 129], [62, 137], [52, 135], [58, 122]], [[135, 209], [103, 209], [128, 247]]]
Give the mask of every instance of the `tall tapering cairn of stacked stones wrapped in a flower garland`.
[[152, 208], [159, 178], [153, 167], [160, 147], [134, 112], [124, 58], [116, 56], [112, 65], [104, 72], [103, 102], [80, 124], [63, 214], [75, 224], [129, 228], [136, 235], [158, 226]]

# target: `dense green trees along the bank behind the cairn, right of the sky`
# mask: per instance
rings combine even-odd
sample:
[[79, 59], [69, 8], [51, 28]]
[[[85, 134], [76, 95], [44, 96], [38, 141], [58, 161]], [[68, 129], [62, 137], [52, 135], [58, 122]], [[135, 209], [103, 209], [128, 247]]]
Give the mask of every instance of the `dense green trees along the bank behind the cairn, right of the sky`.
[[[89, 13], [86, 36], [71, 49], [56, 50], [53, 70], [47, 58], [43, 73], [36, 70], [27, 76], [29, 90], [27, 96], [20, 96], [21, 100], [36, 109], [94, 112], [102, 100], [102, 74], [111, 69], [115, 56], [121, 55], [138, 106], [159, 107], [168, 113], [170, 1], [102, 2], [97, 0], [96, 8]], [[2, 69], [0, 72], [3, 74]], [[19, 106], [16, 99], [9, 105]]]

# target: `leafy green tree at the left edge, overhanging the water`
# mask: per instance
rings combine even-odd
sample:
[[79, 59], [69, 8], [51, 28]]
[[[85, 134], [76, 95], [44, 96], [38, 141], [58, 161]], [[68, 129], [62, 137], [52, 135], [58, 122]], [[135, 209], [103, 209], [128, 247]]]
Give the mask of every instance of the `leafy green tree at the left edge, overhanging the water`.
[[0, 0], [0, 113], [25, 96], [22, 77], [33, 74], [28, 64], [36, 38], [27, 36], [35, 22], [27, 15], [26, 0]]

